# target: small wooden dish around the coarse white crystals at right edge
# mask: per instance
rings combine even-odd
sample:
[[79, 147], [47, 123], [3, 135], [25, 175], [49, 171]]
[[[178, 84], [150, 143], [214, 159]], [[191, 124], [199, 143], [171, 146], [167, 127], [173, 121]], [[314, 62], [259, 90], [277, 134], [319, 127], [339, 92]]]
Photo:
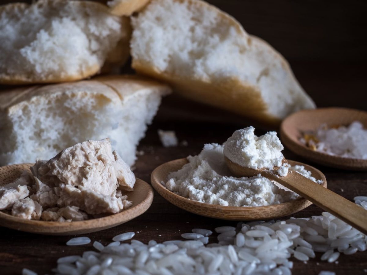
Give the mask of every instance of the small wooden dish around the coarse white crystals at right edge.
[[305, 132], [316, 131], [322, 124], [349, 125], [353, 121], [360, 121], [367, 128], [367, 112], [346, 108], [321, 108], [316, 110], [302, 110], [288, 116], [280, 126], [282, 143], [304, 158], [315, 163], [348, 170], [367, 170], [367, 159], [343, 158], [313, 151], [299, 139]]

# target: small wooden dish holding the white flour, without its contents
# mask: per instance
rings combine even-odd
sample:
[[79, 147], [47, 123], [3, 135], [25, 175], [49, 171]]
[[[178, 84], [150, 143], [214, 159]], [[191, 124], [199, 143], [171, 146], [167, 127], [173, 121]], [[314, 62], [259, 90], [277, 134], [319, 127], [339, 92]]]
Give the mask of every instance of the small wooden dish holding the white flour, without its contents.
[[[310, 170], [312, 176], [316, 179], [323, 180], [323, 186], [326, 187], [326, 178], [316, 168], [303, 164], [301, 162], [289, 161], [291, 165], [304, 165], [307, 170]], [[167, 201], [184, 209], [188, 212], [195, 213], [201, 216], [222, 219], [222, 220], [267, 220], [276, 219], [279, 217], [287, 216], [298, 212], [307, 206], [311, 205], [312, 202], [299, 198], [294, 201], [269, 205], [269, 206], [257, 206], [257, 207], [239, 207], [239, 206], [221, 206], [213, 205], [208, 203], [202, 203], [192, 201], [191, 199], [181, 197], [174, 192], [171, 192], [164, 187], [161, 182], [167, 182], [167, 176], [170, 172], [177, 171], [182, 168], [183, 165], [188, 163], [186, 158], [176, 159], [174, 161], [166, 162], [158, 166], [150, 176], [152, 186], [154, 189]]]

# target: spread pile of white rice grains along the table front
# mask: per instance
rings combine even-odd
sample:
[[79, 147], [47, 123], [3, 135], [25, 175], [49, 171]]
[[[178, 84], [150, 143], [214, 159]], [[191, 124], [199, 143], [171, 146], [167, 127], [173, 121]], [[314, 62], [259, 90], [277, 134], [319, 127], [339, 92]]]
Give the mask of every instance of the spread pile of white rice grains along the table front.
[[[367, 206], [367, 201], [360, 200], [364, 202]], [[218, 242], [211, 244], [208, 244], [208, 236], [212, 231], [200, 228], [182, 234], [187, 241], [157, 243], [151, 240], [148, 244], [137, 240], [121, 243], [132, 238], [133, 235], [128, 234], [134, 234], [127, 232], [115, 236], [114, 242], [107, 246], [94, 242], [93, 247], [98, 252], [86, 251], [82, 257], [60, 258], [54, 271], [70, 275], [290, 275], [292, 256], [307, 263], [309, 258], [315, 258], [315, 252], [323, 252], [321, 260], [337, 262], [341, 252], [350, 255], [367, 250], [366, 235], [327, 212], [322, 216], [286, 221], [240, 222], [237, 228], [223, 226], [215, 231], [219, 233]]]

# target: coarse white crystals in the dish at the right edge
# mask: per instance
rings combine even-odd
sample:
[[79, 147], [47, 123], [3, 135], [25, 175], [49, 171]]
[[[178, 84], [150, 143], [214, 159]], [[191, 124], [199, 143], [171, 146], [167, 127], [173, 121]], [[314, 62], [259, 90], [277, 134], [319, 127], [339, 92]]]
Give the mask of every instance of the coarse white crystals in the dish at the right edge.
[[367, 159], [367, 129], [359, 121], [354, 121], [348, 127], [328, 128], [321, 125], [312, 135], [314, 140], [307, 142], [302, 138], [300, 141], [329, 155]]

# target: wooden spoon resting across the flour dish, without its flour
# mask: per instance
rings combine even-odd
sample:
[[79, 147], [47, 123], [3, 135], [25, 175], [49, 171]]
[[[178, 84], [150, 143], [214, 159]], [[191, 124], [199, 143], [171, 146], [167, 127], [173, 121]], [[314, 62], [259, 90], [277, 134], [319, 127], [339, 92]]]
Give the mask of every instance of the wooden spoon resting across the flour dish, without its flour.
[[273, 170], [252, 169], [238, 165], [227, 157], [225, 157], [225, 160], [228, 168], [235, 175], [250, 177], [261, 174], [263, 177], [275, 180], [315, 203], [320, 208], [352, 225], [363, 234], [367, 234], [367, 211], [365, 209], [348, 201], [348, 199], [343, 198], [333, 191], [320, 186], [320, 184], [302, 176], [300, 173], [289, 169], [287, 176], [280, 177], [276, 175], [279, 167], [274, 167]]

